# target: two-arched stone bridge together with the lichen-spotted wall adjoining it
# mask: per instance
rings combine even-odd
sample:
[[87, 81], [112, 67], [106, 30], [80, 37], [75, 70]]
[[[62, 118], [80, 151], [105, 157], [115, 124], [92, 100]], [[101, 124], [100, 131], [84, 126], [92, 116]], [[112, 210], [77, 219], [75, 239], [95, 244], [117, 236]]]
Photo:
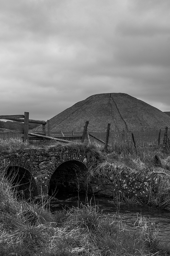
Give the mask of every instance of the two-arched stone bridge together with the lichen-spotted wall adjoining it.
[[[158, 185], [153, 185], [153, 177], [143, 177], [142, 173], [127, 175], [126, 168], [118, 176], [119, 167], [111, 165], [111, 177], [91, 177], [96, 163], [104, 161], [98, 151], [88, 147], [51, 146], [41, 149], [25, 148], [16, 152], [0, 153], [0, 172], [13, 184], [18, 184], [17, 193], [25, 199], [49, 194], [59, 197], [73, 192], [95, 193], [112, 198], [156, 198]], [[152, 174], [157, 175], [157, 174]], [[155, 176], [155, 180], [158, 180]], [[57, 195], [56, 195], [57, 194]]]

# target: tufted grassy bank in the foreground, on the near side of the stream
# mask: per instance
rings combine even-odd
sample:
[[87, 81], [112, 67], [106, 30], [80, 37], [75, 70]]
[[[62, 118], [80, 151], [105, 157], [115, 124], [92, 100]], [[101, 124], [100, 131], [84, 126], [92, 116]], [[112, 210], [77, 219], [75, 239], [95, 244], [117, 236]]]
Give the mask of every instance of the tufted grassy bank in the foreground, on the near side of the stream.
[[51, 213], [44, 205], [17, 201], [15, 187], [0, 176], [0, 256], [165, 256], [166, 241], [154, 224], [138, 220], [129, 231], [118, 215], [86, 206]]

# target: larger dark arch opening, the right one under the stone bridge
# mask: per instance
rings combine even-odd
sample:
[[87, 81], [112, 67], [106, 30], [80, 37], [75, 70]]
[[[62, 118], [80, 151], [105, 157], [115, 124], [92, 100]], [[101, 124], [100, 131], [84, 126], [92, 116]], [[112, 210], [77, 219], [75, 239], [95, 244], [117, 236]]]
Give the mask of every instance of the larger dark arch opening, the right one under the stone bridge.
[[60, 164], [51, 176], [48, 194], [57, 198], [86, 191], [87, 167], [77, 160]]

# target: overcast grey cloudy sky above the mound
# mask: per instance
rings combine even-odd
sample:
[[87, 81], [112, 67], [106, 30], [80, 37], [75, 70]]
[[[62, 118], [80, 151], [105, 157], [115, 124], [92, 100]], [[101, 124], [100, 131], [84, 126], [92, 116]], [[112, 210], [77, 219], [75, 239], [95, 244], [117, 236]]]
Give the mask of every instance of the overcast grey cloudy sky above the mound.
[[116, 92], [170, 111], [169, 0], [1, 0], [0, 31], [0, 115]]

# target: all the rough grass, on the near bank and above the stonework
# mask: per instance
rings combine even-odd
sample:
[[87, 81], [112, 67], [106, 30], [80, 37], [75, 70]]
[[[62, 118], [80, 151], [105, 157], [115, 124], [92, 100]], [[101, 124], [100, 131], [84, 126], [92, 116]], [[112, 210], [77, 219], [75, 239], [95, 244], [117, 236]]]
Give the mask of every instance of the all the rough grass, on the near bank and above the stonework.
[[[100, 144], [83, 145], [58, 144], [53, 141], [23, 142], [21, 139], [2, 139], [0, 151], [22, 151], [25, 148], [47, 148], [56, 145], [63, 147], [84, 147], [98, 152], [103, 165], [89, 170], [91, 176], [107, 175], [109, 163], [115, 163], [122, 169], [141, 170], [146, 174], [150, 169], [170, 170], [169, 148], [152, 143], [136, 143], [131, 138], [117, 139], [108, 151]], [[157, 155], [160, 166], [153, 157]], [[102, 168], [103, 167], [103, 168]], [[143, 169], [141, 169], [141, 167]], [[120, 169], [121, 169], [120, 168]], [[131, 169], [130, 169], [131, 168]], [[160, 174], [161, 175], [161, 174]], [[164, 185], [168, 179], [164, 179]], [[17, 184], [16, 184], [17, 186]], [[97, 206], [90, 202], [85, 206], [55, 213], [49, 210], [49, 198], [39, 204], [16, 198], [16, 187], [6, 179], [5, 170], [0, 173], [0, 256], [166, 256], [170, 255], [170, 246], [158, 238], [158, 229], [141, 216], [138, 229], [129, 231], [117, 215], [110, 218], [102, 214]], [[162, 190], [169, 204], [170, 196]], [[161, 193], [161, 190], [160, 190]], [[161, 195], [161, 196], [162, 196]], [[43, 197], [42, 197], [43, 198]], [[163, 197], [162, 199], [163, 200]], [[130, 202], [129, 202], [130, 203]], [[133, 203], [133, 202], [131, 202]], [[136, 203], [136, 202], [135, 202]], [[165, 201], [164, 201], [165, 203]], [[161, 207], [161, 202], [158, 205]]]

